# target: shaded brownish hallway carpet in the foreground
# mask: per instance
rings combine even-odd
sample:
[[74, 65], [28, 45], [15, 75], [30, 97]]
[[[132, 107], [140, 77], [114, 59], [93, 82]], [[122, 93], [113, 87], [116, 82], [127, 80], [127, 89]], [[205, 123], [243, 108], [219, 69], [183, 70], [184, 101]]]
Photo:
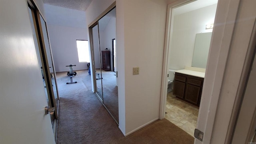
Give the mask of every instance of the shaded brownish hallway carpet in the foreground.
[[[62, 93], [62, 92], [60, 92]], [[166, 119], [124, 137], [90, 91], [60, 96], [57, 144], [193, 144], [194, 138]]]

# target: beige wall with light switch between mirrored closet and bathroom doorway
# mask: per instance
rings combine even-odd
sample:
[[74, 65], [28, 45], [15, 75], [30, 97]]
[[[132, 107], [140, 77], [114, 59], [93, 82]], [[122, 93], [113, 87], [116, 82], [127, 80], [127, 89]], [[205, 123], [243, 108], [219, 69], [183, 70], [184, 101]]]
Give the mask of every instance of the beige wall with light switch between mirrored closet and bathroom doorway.
[[[93, 0], [90, 24], [114, 0]], [[119, 128], [124, 135], [159, 118], [167, 4], [165, 0], [117, 0]], [[140, 67], [139, 75], [132, 68]]]

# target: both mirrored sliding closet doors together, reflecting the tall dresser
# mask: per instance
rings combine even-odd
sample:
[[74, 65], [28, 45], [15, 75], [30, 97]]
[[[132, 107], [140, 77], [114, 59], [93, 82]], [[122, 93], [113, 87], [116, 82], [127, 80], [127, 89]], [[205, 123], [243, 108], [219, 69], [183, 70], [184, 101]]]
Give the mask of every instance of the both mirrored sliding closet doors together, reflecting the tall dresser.
[[116, 8], [92, 24], [89, 31], [95, 93], [118, 123]]

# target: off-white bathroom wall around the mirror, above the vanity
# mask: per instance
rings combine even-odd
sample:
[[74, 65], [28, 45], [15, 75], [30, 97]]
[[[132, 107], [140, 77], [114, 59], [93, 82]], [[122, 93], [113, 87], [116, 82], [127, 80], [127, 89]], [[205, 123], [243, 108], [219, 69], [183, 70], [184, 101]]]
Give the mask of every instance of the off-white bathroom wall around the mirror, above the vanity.
[[216, 7], [217, 4], [214, 4], [174, 16], [169, 69], [181, 70], [192, 65], [196, 34], [212, 32], [205, 26], [214, 23]]

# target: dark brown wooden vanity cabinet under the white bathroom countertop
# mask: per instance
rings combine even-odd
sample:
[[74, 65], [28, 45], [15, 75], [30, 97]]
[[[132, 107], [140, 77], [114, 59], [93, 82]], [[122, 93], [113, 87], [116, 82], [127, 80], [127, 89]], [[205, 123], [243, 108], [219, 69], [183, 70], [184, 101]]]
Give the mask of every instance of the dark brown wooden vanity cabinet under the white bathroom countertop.
[[175, 73], [173, 94], [185, 102], [200, 105], [204, 78]]

